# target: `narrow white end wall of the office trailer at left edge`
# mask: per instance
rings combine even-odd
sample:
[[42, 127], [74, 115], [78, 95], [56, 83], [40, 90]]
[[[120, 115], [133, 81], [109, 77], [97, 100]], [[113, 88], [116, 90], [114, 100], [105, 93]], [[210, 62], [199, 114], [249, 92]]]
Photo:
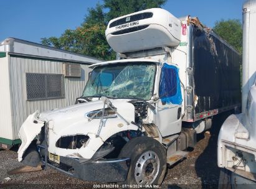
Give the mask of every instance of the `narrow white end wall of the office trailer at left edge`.
[[[6, 52], [5, 57], [0, 58], [0, 143], [5, 143], [4, 139], [12, 138], [12, 113], [11, 113], [11, 93], [9, 83], [9, 57]], [[4, 54], [2, 53], [2, 54]], [[4, 146], [1, 146], [4, 147]]]

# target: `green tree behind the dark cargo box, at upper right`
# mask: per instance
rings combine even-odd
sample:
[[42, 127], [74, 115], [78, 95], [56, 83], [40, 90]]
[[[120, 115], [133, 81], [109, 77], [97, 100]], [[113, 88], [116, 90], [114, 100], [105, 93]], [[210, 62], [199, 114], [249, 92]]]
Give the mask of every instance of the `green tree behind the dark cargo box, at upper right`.
[[242, 23], [238, 19], [223, 19], [215, 22], [214, 31], [242, 53]]

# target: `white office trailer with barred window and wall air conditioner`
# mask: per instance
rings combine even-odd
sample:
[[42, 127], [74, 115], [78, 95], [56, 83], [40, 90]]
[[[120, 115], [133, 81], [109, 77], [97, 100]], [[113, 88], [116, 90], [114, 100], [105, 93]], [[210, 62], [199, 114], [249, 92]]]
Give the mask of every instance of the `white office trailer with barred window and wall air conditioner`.
[[8, 38], [0, 43], [0, 148], [21, 142], [19, 128], [34, 111], [69, 106], [82, 94], [88, 65], [102, 60]]

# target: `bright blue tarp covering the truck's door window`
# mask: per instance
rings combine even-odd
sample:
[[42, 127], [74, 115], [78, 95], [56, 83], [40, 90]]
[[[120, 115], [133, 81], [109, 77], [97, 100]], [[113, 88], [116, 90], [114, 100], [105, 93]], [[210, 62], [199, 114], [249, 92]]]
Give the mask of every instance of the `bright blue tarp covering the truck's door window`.
[[177, 67], [164, 63], [161, 71], [159, 97], [163, 103], [181, 104], [183, 102]]

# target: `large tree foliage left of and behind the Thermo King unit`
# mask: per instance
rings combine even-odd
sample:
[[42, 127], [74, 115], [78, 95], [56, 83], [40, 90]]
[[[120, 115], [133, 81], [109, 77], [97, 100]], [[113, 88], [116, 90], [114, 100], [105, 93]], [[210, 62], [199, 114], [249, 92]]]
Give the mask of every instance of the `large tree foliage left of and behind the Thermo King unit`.
[[115, 59], [105, 37], [108, 22], [119, 16], [153, 7], [161, 7], [167, 0], [103, 0], [103, 4], [88, 9], [83, 23], [75, 30], [67, 29], [60, 37], [42, 38], [49, 45], [104, 60]]

